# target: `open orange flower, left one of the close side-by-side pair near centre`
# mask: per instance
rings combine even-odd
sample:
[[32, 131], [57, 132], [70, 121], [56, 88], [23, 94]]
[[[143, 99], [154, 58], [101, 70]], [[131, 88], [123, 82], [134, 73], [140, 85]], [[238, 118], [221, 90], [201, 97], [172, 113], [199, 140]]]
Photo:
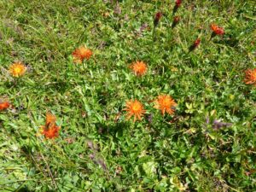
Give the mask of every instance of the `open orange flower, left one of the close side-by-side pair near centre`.
[[141, 102], [138, 102], [137, 100], [127, 101], [124, 111], [127, 111], [127, 119], [130, 119], [131, 116], [134, 116], [133, 122], [135, 122], [137, 119], [141, 120], [143, 113], [146, 112], [143, 108], [143, 104]]

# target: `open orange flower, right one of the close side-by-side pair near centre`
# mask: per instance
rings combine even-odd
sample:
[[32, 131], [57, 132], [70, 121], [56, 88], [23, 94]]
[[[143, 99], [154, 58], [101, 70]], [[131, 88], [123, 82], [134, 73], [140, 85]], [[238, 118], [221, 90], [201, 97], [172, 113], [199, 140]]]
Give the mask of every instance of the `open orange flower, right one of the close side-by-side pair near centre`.
[[172, 96], [160, 95], [154, 101], [154, 108], [160, 109], [161, 113], [164, 115], [165, 113], [172, 114], [175, 111], [175, 106], [177, 103], [172, 99]]

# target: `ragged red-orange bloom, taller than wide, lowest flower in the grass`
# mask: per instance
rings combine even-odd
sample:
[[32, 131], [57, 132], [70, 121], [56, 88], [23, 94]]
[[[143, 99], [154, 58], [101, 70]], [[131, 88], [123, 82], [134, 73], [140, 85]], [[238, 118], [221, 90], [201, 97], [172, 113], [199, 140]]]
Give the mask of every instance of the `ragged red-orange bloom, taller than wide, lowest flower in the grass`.
[[55, 138], [59, 136], [60, 127], [56, 125], [56, 117], [52, 113], [46, 113], [45, 125], [42, 126], [42, 134], [46, 138]]

